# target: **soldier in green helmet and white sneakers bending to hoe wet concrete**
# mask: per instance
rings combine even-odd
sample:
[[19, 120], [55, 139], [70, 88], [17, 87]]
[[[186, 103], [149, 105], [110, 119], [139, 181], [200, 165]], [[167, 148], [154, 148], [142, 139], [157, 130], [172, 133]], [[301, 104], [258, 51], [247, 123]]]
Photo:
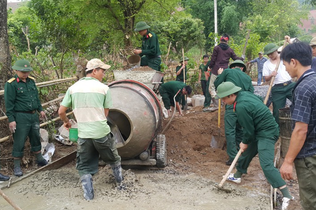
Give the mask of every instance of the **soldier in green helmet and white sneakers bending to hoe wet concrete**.
[[[269, 108], [255, 94], [240, 91], [241, 89], [230, 81], [223, 82], [217, 87], [217, 96], [222, 98], [223, 102], [233, 105], [233, 111], [236, 112], [237, 120], [244, 131], [244, 138], [240, 143], [243, 153], [236, 166], [237, 172], [231, 173], [227, 180], [240, 183], [241, 175], [247, 173], [249, 163], [259, 153], [260, 165], [268, 182], [273, 188], [279, 188], [283, 197], [292, 198], [286, 182], [273, 163], [274, 144], [279, 137], [279, 126]], [[282, 206], [282, 209], [286, 208]]]

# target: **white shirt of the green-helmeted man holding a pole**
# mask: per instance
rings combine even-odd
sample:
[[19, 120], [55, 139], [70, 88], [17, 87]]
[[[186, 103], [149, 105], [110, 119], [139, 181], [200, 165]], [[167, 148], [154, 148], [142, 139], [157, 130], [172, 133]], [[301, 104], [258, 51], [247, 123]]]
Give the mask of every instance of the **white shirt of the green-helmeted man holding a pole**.
[[[276, 64], [273, 64], [270, 59], [268, 59], [263, 64], [263, 76], [268, 76], [272, 73], [272, 71], [275, 70]], [[280, 61], [279, 68], [277, 70], [277, 74], [274, 78], [273, 85], [287, 82], [288, 80], [291, 80], [291, 76], [288, 74], [288, 72], [285, 70], [285, 66], [283, 65], [283, 61]]]

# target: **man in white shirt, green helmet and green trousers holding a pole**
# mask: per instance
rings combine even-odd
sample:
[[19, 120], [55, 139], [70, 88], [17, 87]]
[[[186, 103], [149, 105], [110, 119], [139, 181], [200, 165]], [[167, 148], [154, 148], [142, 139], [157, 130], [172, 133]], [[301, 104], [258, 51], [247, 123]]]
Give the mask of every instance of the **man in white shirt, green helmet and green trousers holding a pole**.
[[291, 80], [291, 76], [285, 70], [282, 60], [280, 61], [277, 72], [275, 71], [276, 63], [280, 60], [280, 55], [277, 52], [278, 46], [274, 43], [269, 43], [264, 47], [264, 54], [268, 55], [269, 59], [263, 64], [263, 76], [266, 81], [270, 81], [272, 76], [275, 76], [271, 89], [273, 116], [279, 124], [279, 108], [285, 107], [286, 98], [292, 99], [292, 89], [295, 85]]

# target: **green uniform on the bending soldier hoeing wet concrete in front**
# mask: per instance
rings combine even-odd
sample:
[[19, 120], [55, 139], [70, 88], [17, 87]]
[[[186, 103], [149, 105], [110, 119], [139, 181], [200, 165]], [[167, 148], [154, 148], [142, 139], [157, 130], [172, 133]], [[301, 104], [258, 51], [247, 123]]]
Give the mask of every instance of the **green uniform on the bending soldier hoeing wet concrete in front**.
[[279, 137], [279, 129], [269, 108], [247, 91], [239, 92], [234, 106], [237, 120], [243, 127], [242, 142], [248, 144], [238, 160], [237, 170], [247, 173], [252, 158], [259, 153], [260, 165], [268, 182], [274, 188], [285, 185], [280, 172], [273, 165], [274, 144]]

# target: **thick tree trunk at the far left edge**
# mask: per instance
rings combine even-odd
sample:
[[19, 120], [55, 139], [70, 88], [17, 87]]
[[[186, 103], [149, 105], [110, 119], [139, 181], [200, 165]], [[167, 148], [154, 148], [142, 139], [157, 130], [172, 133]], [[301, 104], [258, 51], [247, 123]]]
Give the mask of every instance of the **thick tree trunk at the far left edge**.
[[[0, 0], [0, 89], [13, 75], [8, 39], [7, 0]], [[0, 96], [0, 108], [5, 109], [5, 100]]]

